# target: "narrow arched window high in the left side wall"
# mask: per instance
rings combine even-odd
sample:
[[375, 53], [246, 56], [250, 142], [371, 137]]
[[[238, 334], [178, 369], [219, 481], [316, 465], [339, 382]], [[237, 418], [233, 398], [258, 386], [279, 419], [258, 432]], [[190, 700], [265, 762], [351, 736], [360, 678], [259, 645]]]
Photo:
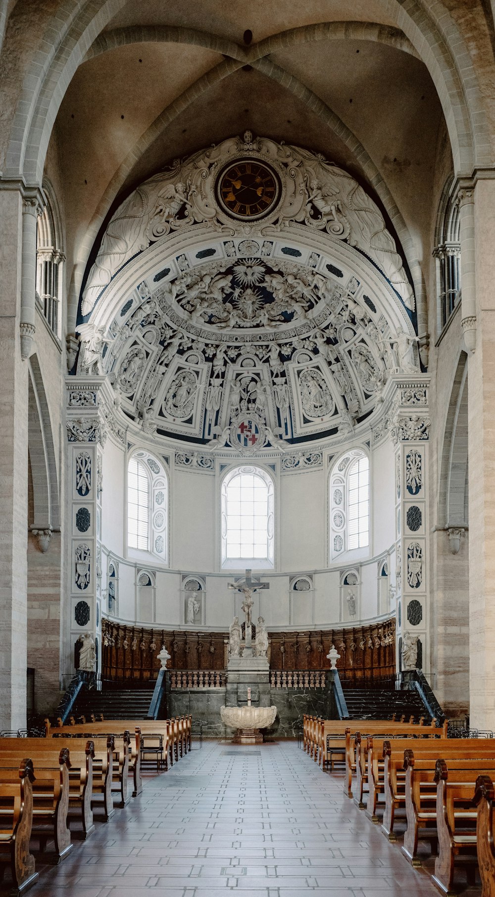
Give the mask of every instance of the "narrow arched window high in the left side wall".
[[60, 213], [51, 185], [43, 182], [47, 205], [38, 217], [36, 292], [38, 302], [55, 336], [62, 335], [61, 300], [64, 251]]

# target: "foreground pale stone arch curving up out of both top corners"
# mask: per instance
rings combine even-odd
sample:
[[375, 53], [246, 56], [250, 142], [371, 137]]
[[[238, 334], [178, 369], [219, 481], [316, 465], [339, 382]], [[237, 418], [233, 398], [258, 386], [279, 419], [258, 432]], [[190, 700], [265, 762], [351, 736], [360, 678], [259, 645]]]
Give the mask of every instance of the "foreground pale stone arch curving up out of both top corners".
[[[24, 79], [5, 174], [22, 174], [30, 182], [41, 182], [49, 137], [66, 85], [92, 42], [123, 5], [124, 0], [100, 0], [98, 12], [93, 13], [94, 5], [85, 5], [81, 10], [75, 0], [67, 0], [56, 20], [49, 23], [44, 42], [47, 49], [34, 55]], [[426, 12], [421, 0], [408, 4], [407, 10], [404, 4], [387, 4], [387, 17], [388, 22], [390, 17], [395, 19], [397, 28], [404, 31], [427, 65], [444, 109], [456, 171], [470, 174], [474, 164], [487, 163], [491, 141], [474, 65], [456, 22], [449, 17], [444, 25], [445, 8], [434, 3]], [[55, 44], [54, 30], [60, 31], [61, 21], [62, 37]], [[314, 39], [314, 28], [303, 29], [307, 39]], [[271, 40], [275, 46], [277, 36]], [[255, 45], [249, 56], [254, 58], [256, 53]], [[34, 93], [33, 81], [37, 85]], [[469, 109], [465, 102], [467, 91]]]

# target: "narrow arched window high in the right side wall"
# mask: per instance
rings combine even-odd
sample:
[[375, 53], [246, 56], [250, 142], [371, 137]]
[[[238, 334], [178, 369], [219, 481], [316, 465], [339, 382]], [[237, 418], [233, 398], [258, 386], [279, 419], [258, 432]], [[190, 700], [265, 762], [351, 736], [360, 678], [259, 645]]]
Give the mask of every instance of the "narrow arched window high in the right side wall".
[[461, 244], [459, 207], [452, 196], [453, 182], [449, 179], [440, 199], [435, 248], [437, 260], [437, 296], [439, 330], [457, 308], [461, 287]]

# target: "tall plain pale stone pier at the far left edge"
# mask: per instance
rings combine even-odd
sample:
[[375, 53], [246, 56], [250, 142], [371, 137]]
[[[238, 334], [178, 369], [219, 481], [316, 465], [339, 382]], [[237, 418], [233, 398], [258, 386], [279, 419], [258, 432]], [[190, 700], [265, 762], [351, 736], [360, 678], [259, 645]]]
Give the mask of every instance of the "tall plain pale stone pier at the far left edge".
[[[0, 181], [0, 728], [26, 725], [28, 365], [21, 360], [21, 190]], [[33, 219], [34, 220], [34, 219]]]

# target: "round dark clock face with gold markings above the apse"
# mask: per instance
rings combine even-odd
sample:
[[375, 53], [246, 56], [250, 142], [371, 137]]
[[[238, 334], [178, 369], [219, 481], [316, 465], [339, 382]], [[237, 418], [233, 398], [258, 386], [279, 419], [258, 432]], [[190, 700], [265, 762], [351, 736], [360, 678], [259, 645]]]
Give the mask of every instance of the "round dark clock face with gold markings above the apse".
[[239, 221], [264, 218], [276, 207], [281, 184], [277, 172], [258, 159], [239, 159], [220, 172], [218, 205]]

